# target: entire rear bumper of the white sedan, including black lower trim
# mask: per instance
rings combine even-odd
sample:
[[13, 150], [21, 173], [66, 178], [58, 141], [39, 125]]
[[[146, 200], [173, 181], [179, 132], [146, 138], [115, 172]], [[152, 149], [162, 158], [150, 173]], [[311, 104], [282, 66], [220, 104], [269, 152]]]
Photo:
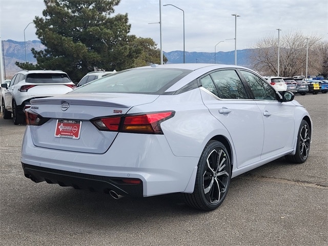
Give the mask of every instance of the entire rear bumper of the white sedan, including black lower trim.
[[[163, 135], [121, 133], [106, 153], [92, 154], [36, 147], [29, 128], [20, 160], [25, 176], [35, 182], [105, 193], [113, 190], [122, 196], [193, 192], [199, 157], [173, 155]], [[123, 179], [141, 180], [140, 188]]]

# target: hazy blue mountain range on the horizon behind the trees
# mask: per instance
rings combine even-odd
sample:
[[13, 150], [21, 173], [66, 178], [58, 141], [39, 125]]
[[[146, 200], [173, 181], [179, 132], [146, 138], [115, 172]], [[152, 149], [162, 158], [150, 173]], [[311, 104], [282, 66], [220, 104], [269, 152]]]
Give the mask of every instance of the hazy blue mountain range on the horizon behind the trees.
[[[25, 47], [26, 45], [26, 47]], [[11, 78], [17, 71], [20, 70], [15, 65], [16, 61], [23, 63], [28, 61], [30, 63], [36, 63], [36, 59], [33, 57], [31, 49], [44, 50], [46, 47], [41, 44], [40, 40], [29, 40], [25, 42], [19, 42], [15, 40], [3, 40], [2, 41], [3, 56], [4, 56], [4, 70], [5, 77]], [[247, 67], [247, 57], [251, 50], [237, 50], [237, 64]], [[228, 52], [185, 52], [186, 63], [215, 63], [232, 65], [235, 63], [235, 51]], [[176, 50], [170, 52], [164, 52], [168, 58], [168, 63], [183, 63], [183, 51]]]

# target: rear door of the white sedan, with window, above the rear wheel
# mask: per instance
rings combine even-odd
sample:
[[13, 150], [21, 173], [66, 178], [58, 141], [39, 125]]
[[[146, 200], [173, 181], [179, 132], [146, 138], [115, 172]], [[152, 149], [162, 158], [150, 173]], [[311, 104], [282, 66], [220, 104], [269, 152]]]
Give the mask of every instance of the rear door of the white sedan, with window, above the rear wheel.
[[237, 168], [259, 161], [264, 135], [262, 116], [236, 70], [215, 71], [200, 78], [200, 83], [207, 89], [202, 92], [204, 105], [227, 128], [233, 140]]

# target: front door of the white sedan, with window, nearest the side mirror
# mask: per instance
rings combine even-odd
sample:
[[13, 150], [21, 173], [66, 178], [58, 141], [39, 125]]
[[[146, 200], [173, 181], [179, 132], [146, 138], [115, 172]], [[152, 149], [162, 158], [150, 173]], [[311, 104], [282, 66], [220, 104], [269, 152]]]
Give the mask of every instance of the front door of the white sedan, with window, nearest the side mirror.
[[249, 84], [263, 118], [261, 159], [290, 151], [293, 148], [295, 105], [279, 101], [277, 92], [258, 75], [247, 70], [240, 72]]

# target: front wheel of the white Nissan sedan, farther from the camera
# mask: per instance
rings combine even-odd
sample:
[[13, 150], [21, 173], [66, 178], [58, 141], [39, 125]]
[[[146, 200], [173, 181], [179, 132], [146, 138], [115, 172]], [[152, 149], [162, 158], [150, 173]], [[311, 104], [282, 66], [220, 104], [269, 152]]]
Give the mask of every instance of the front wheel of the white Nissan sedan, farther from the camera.
[[288, 161], [303, 163], [308, 159], [311, 144], [311, 130], [308, 122], [302, 120], [297, 134], [296, 152], [294, 155], [286, 155]]

